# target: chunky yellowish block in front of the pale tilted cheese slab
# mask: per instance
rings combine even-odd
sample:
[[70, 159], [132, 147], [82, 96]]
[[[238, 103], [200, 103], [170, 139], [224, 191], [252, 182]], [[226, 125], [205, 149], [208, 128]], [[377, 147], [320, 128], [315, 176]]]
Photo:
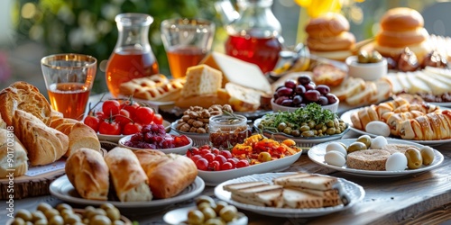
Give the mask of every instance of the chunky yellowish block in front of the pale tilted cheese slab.
[[221, 88], [223, 76], [221, 71], [215, 68], [198, 65], [187, 69], [186, 79], [186, 83], [181, 90], [183, 97], [216, 94], [217, 90]]

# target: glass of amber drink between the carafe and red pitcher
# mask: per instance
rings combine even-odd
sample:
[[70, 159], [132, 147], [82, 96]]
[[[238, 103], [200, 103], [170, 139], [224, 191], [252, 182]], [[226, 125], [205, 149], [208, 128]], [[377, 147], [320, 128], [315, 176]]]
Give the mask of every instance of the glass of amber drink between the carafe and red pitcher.
[[161, 22], [161, 39], [173, 78], [186, 76], [211, 49], [215, 23], [202, 19], [169, 19]]

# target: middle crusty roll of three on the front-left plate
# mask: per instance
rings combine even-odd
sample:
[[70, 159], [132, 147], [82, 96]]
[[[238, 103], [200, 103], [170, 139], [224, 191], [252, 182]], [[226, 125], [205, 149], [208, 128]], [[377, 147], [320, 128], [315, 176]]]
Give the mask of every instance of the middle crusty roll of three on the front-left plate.
[[152, 200], [149, 179], [132, 150], [113, 148], [106, 154], [105, 161], [110, 170], [115, 193], [121, 202]]

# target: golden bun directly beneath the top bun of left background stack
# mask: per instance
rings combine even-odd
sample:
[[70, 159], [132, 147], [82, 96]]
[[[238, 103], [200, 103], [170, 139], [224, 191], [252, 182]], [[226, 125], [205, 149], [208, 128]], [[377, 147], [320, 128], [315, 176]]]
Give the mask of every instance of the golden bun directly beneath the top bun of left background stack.
[[344, 31], [339, 35], [326, 38], [314, 38], [308, 36], [307, 46], [312, 51], [336, 51], [353, 49], [355, 44], [354, 34]]

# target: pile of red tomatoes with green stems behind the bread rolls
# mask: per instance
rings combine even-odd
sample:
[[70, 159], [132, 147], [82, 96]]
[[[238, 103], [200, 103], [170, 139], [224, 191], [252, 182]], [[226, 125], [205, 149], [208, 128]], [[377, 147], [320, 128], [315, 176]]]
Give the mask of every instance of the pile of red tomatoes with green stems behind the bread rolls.
[[141, 106], [133, 100], [122, 103], [106, 100], [102, 104], [102, 110], [90, 113], [84, 122], [101, 134], [128, 135], [141, 131], [143, 126], [151, 123], [162, 124], [163, 118], [152, 108]]

